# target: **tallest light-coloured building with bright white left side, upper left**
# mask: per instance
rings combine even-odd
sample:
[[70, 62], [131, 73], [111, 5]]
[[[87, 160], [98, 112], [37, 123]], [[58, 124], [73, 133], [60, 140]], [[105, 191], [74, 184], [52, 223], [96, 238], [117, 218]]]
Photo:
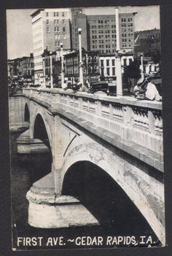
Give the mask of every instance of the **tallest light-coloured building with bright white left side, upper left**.
[[36, 9], [31, 13], [33, 28], [35, 83], [43, 79], [42, 53], [45, 49], [54, 51], [71, 49], [71, 16], [80, 8]]

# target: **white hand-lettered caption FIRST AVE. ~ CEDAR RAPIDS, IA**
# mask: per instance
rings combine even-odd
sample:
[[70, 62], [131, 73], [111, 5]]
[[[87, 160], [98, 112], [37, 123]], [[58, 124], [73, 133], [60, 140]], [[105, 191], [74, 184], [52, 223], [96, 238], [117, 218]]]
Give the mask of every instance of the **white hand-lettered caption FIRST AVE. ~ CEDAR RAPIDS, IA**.
[[17, 247], [25, 246], [25, 247], [33, 247], [33, 246], [42, 246], [46, 245], [47, 247], [54, 246], [65, 246], [66, 244], [75, 244], [77, 246], [101, 246], [101, 245], [133, 245], [136, 246], [138, 244], [149, 245], [155, 244], [152, 239], [152, 236], [78, 236], [77, 238], [66, 239], [63, 236], [59, 237], [48, 237], [46, 241], [44, 241], [44, 237], [18, 237], [17, 238]]

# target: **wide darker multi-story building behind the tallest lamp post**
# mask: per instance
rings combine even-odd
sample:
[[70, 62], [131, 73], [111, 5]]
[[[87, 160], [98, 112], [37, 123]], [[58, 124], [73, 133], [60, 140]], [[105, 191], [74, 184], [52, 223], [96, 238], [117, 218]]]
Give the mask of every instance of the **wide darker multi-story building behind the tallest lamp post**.
[[[120, 48], [131, 52], [134, 48], [136, 12], [120, 13]], [[82, 28], [82, 47], [100, 53], [115, 53], [117, 47], [115, 15], [77, 14], [71, 22], [72, 43], [78, 49], [78, 28]]]

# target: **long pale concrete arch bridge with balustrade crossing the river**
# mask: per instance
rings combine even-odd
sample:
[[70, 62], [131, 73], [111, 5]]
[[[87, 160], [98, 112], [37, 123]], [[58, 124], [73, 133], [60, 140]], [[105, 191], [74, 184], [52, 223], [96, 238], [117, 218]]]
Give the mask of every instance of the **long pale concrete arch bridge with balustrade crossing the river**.
[[[18, 149], [24, 150], [27, 137], [30, 144], [36, 139], [47, 139], [52, 152], [50, 174], [35, 182], [27, 194], [30, 225], [43, 228], [65, 225], [65, 221], [57, 217], [57, 208], [79, 202], [62, 195], [63, 182], [71, 166], [89, 161], [122, 187], [165, 244], [160, 102], [117, 98], [103, 93], [25, 88], [20, 108], [21, 122], [29, 121], [29, 130], [20, 136], [22, 142]], [[29, 120], [24, 120], [26, 114]], [[36, 131], [42, 129], [41, 123], [47, 138]], [[44, 216], [47, 211], [46, 217], [43, 209]], [[62, 212], [65, 215], [65, 211], [60, 210]]]

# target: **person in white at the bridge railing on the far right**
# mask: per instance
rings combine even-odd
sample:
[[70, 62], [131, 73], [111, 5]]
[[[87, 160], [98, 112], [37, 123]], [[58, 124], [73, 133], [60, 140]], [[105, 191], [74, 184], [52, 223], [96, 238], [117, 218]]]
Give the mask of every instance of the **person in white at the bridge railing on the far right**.
[[156, 86], [150, 82], [149, 77], [141, 77], [134, 87], [135, 97], [138, 99], [149, 99], [151, 101], [161, 101], [162, 97]]

